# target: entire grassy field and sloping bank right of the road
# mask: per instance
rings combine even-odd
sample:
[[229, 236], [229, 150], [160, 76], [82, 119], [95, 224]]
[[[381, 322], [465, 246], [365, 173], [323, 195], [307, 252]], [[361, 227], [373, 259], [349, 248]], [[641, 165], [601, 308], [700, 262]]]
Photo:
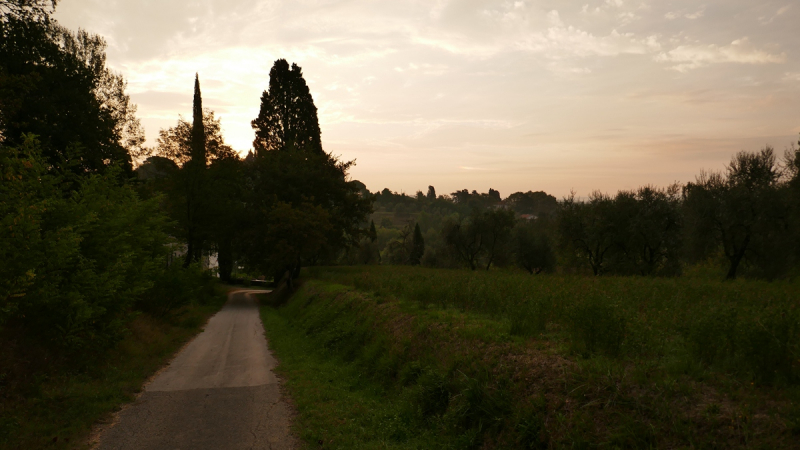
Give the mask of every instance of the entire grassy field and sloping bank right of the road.
[[309, 448], [798, 447], [797, 282], [305, 278], [263, 316]]

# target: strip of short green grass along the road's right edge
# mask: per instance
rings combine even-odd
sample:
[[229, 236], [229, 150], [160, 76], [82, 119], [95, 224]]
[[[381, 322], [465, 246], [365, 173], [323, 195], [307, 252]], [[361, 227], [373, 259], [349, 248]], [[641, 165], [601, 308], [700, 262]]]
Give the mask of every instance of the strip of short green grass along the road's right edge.
[[278, 374], [299, 411], [295, 429], [308, 448], [441, 448], [431, 433], [419, 432], [400, 393], [327, 351], [288, 315], [261, 309]]

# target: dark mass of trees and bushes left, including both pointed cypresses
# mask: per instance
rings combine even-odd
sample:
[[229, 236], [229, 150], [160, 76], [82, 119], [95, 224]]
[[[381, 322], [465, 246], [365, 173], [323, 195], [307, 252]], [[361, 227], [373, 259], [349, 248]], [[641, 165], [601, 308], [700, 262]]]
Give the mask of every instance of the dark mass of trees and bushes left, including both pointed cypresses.
[[224, 279], [237, 267], [291, 281], [366, 232], [370, 200], [347, 181], [352, 163], [323, 151], [299, 67], [275, 62], [248, 158], [224, 143], [199, 80], [192, 120], [146, 148], [105, 41], [61, 27], [54, 3], [0, 0], [0, 379], [38, 364], [22, 349], [77, 362], [137, 314], [206, 301], [209, 257]]

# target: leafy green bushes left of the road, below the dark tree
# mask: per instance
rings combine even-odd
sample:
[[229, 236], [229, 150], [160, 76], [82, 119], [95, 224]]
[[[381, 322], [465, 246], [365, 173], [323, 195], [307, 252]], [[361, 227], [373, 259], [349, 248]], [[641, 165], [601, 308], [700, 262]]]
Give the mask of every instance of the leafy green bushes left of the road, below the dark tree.
[[157, 199], [119, 186], [115, 170], [81, 178], [48, 171], [31, 136], [0, 153], [0, 325], [22, 325], [69, 351], [113, 344], [163, 265]]

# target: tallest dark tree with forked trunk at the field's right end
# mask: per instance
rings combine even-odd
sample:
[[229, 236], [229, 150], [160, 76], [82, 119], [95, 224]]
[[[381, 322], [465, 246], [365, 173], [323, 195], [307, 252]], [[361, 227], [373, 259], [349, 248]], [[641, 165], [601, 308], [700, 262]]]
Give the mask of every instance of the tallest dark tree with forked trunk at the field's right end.
[[725, 278], [736, 278], [743, 261], [765, 267], [782, 259], [781, 249], [769, 245], [781, 242], [786, 229], [780, 176], [767, 146], [757, 153], [739, 152], [724, 174], [703, 172], [684, 187], [690, 244], [696, 255], [721, 248], [728, 260]]

